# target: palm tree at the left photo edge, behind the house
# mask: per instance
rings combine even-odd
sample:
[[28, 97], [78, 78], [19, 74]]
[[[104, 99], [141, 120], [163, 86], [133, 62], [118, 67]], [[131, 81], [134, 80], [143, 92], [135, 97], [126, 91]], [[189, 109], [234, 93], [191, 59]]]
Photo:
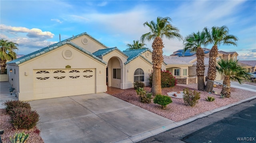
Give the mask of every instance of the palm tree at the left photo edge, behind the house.
[[15, 50], [18, 50], [16, 47], [17, 43], [12, 41], [0, 40], [0, 66], [1, 66], [1, 74], [4, 73], [6, 67], [6, 61], [16, 59]]

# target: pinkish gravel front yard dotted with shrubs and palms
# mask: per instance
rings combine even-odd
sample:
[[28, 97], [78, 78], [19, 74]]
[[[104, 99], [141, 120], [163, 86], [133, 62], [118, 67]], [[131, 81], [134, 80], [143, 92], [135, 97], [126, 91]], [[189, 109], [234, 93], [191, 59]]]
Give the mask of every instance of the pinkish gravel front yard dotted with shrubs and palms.
[[[196, 90], [197, 84], [178, 84], [173, 88], [163, 88], [162, 94], [168, 95], [168, 92], [182, 92], [184, 88], [188, 87], [190, 90]], [[149, 86], [144, 88], [147, 91], [150, 91], [151, 88]], [[158, 114], [160, 116], [163, 116], [165, 118], [171, 119], [173, 121], [181, 121], [184, 119], [188, 119], [192, 116], [196, 116], [198, 114], [201, 114], [203, 112], [213, 110], [215, 108], [220, 108], [222, 106], [226, 106], [228, 104], [232, 104], [235, 102], [238, 102], [240, 100], [256, 96], [256, 92], [242, 90], [238, 88], [231, 88], [231, 97], [230, 98], [220, 98], [220, 92], [222, 90], [221, 86], [217, 86], [216, 88], [213, 88], [214, 91], [217, 92], [217, 94], [209, 94], [208, 92], [204, 91], [198, 91], [200, 92], [200, 100], [198, 104], [194, 107], [186, 106], [184, 104], [183, 98], [172, 98], [172, 103], [167, 106], [165, 110], [161, 109], [161, 106], [158, 104], [154, 104], [153, 102], [150, 104], [144, 104], [139, 101], [139, 98], [136, 94], [136, 91], [134, 88], [129, 88], [124, 90], [122, 93], [114, 94], [113, 96], [116, 96], [122, 100], [125, 100], [127, 102], [130, 102], [131, 104], [134, 104], [136, 106], [139, 106], [143, 109], [146, 109], [150, 112], [153, 112], [155, 114]], [[207, 96], [213, 96], [215, 100], [213, 102], [208, 102], [205, 100]]]

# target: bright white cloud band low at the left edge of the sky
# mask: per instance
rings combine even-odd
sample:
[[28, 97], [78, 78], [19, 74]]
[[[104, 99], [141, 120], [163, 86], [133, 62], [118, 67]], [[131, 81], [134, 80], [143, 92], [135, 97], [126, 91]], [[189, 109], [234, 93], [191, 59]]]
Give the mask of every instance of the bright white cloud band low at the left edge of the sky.
[[40, 40], [51, 39], [54, 36], [53, 33], [49, 32], [49, 31], [43, 32], [41, 29], [38, 29], [38, 28], [28, 29], [26, 27], [12, 27], [12, 26], [7, 26], [4, 24], [1, 24], [0, 29], [2, 31], [6, 31], [6, 32], [12, 33], [12, 34], [27, 33], [28, 37], [39, 38]]

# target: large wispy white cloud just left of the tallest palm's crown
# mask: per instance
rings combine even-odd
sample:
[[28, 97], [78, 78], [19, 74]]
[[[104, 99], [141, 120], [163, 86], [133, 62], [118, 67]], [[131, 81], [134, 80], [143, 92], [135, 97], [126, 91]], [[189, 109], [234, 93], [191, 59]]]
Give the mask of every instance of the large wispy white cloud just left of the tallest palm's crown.
[[119, 13], [85, 13], [80, 15], [68, 15], [70, 22], [81, 22], [93, 24], [98, 30], [108, 31], [112, 34], [131, 34], [144, 33], [147, 29], [143, 28], [143, 23], [153, 20], [154, 10], [145, 6], [136, 6], [135, 8]]

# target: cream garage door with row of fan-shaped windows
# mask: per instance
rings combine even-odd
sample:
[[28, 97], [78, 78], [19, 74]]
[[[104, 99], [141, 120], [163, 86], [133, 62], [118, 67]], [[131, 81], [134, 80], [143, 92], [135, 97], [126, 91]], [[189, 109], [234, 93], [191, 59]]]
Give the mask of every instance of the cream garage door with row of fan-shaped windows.
[[94, 69], [34, 70], [34, 98], [95, 93]]

